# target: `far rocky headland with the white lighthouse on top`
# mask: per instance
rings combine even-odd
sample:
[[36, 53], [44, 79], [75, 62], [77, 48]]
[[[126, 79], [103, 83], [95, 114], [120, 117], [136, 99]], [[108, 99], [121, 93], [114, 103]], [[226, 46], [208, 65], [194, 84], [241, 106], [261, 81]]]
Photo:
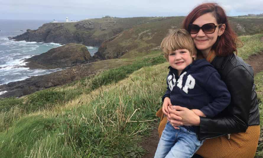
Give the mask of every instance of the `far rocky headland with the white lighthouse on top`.
[[37, 30], [27, 30], [13, 37], [17, 41], [45, 43], [82, 43], [86, 46], [100, 46], [108, 38], [134, 25], [154, 21], [156, 17], [98, 18], [79, 22], [46, 23]]

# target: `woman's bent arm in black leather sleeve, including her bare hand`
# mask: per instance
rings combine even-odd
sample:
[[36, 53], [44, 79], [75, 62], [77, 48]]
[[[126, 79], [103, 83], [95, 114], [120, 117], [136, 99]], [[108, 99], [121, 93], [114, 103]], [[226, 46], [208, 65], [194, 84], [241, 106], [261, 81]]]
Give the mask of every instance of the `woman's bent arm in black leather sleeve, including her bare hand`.
[[[200, 133], [226, 134], [245, 132], [248, 127], [254, 79], [241, 65], [228, 73], [225, 83], [231, 94], [231, 103], [223, 111], [226, 115], [220, 115], [215, 118], [199, 117], [187, 108], [173, 106], [173, 109], [168, 107], [170, 113], [168, 114], [168, 120], [170, 120], [171, 125], [176, 126], [178, 122], [182, 122], [184, 125], [199, 125]], [[176, 120], [175, 116], [182, 117], [182, 120]]]

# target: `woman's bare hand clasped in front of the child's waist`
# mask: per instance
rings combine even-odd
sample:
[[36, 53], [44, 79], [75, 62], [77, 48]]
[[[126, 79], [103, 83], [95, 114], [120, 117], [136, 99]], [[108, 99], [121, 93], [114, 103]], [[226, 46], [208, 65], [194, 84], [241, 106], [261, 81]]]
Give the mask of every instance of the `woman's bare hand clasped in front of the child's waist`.
[[186, 107], [168, 106], [168, 111], [169, 114], [167, 115], [167, 118], [173, 127], [177, 127], [179, 125], [200, 125], [200, 117]]

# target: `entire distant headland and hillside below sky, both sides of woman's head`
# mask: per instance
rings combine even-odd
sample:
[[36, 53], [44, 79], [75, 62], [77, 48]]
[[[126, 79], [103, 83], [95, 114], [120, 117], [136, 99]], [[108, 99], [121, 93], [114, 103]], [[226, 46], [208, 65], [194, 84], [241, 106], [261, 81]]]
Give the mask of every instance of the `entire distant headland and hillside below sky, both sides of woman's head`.
[[[47, 23], [13, 39], [18, 41], [82, 43], [100, 46], [99, 59], [130, 58], [160, 46], [164, 36], [181, 28], [185, 17], [99, 18], [79, 22]], [[229, 17], [238, 35], [263, 32], [263, 19]]]

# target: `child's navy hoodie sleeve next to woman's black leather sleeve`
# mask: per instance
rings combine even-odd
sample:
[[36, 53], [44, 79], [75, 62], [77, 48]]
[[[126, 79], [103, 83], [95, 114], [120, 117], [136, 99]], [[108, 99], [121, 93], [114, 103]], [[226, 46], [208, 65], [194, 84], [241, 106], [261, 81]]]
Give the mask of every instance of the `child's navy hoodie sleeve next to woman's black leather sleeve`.
[[209, 118], [215, 117], [230, 104], [230, 93], [217, 71], [207, 79], [204, 88], [212, 96], [213, 101], [200, 110]]

